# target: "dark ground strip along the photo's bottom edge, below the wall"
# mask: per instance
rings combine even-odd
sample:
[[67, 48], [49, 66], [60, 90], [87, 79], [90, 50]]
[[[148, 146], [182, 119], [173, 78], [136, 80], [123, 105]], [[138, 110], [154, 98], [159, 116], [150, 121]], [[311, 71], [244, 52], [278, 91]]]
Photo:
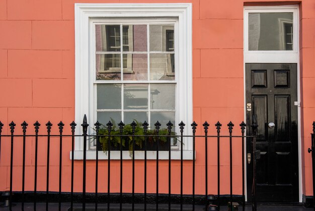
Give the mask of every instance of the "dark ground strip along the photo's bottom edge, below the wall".
[[[14, 203], [12, 206], [12, 210], [21, 210], [21, 203]], [[9, 207], [3, 207], [0, 205], [0, 209], [4, 211], [9, 211]], [[70, 203], [61, 203], [61, 211], [68, 211], [70, 207]], [[36, 209], [37, 210], [45, 210], [46, 204], [45, 203], [37, 203]], [[58, 203], [49, 203], [48, 205], [49, 210], [55, 211], [58, 210]], [[25, 203], [24, 204], [24, 210], [25, 211], [30, 211], [34, 210], [34, 204], [33, 203]], [[73, 204], [73, 211], [81, 211], [82, 210], [82, 204], [75, 203]], [[87, 211], [92, 211], [95, 210], [95, 204], [89, 203], [86, 205], [86, 210]], [[107, 204], [100, 203], [98, 206], [99, 211], [106, 211], [107, 210]], [[116, 211], [119, 210], [119, 204], [111, 204], [110, 205], [110, 210]], [[129, 211], [131, 210], [131, 204], [123, 204], [122, 210], [124, 211]], [[140, 211], [144, 210], [143, 209], [143, 204], [135, 204], [134, 205], [134, 210]], [[148, 211], [155, 210], [155, 204], [147, 204], [147, 209]], [[159, 204], [159, 210], [168, 210], [168, 204]], [[172, 204], [171, 210], [180, 210], [180, 205], [179, 204]], [[183, 210], [192, 210], [192, 205], [183, 205]], [[205, 210], [204, 206], [196, 205], [195, 210]], [[228, 207], [227, 206], [221, 206], [220, 207], [221, 211], [227, 211]], [[239, 207], [239, 211], [242, 210], [242, 207]], [[252, 205], [248, 204], [245, 207], [245, 211], [250, 211], [252, 210]], [[286, 206], [286, 205], [258, 205], [257, 206], [258, 211], [307, 211], [307, 210], [313, 210], [313, 208], [305, 208], [303, 206]]]

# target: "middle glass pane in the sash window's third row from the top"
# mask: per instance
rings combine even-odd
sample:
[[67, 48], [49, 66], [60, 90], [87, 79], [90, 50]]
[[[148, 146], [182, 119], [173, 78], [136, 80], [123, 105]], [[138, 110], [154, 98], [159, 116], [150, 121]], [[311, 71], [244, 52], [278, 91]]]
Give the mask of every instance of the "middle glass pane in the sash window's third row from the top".
[[124, 85], [124, 109], [147, 109], [147, 84]]

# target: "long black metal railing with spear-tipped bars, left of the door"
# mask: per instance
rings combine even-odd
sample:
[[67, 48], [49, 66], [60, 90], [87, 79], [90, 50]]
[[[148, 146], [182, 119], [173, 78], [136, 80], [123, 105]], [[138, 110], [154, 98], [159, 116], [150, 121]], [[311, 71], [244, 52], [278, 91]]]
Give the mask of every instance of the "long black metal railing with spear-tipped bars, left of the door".
[[[157, 140], [157, 143], [159, 143], [159, 139], [160, 138], [167, 138], [168, 139], [168, 144], [169, 144], [169, 149], [168, 149], [168, 194], [167, 196], [164, 196], [164, 194], [161, 194], [159, 193], [159, 144], [156, 144], [156, 193], [155, 193], [155, 209], [156, 210], [159, 210], [159, 204], [161, 203], [161, 201], [159, 200], [159, 197], [163, 197], [163, 198], [166, 198], [167, 200], [165, 201], [166, 203], [168, 203], [168, 209], [171, 210], [171, 204], [174, 203], [174, 200], [172, 199], [174, 193], [171, 192], [171, 186], [172, 186], [172, 183], [171, 183], [171, 175], [173, 174], [172, 171], [174, 171], [172, 169], [172, 157], [171, 157], [171, 139], [172, 138], [176, 138], [178, 139], [179, 141], [179, 149], [176, 149], [176, 150], [180, 150], [180, 195], [179, 195], [179, 202], [180, 203], [180, 209], [182, 210], [183, 209], [183, 204], [184, 204], [184, 197], [186, 197], [184, 194], [183, 194], [183, 140], [184, 138], [187, 139], [186, 141], [192, 141], [192, 145], [193, 145], [193, 159], [192, 159], [192, 181], [191, 183], [188, 183], [188, 184], [191, 184], [192, 185], [192, 209], [195, 210], [195, 204], [198, 203], [199, 205], [200, 204], [203, 204], [205, 206], [205, 210], [208, 210], [208, 208], [210, 209], [209, 207], [209, 203], [212, 203], [211, 205], [211, 210], [220, 210], [220, 205], [223, 204], [223, 200], [222, 200], [222, 195], [220, 194], [220, 141], [223, 139], [223, 138], [226, 138], [229, 140], [229, 185], [230, 185], [230, 193], [229, 193], [229, 197], [227, 197], [227, 201], [230, 202], [230, 210], [233, 210], [233, 206], [232, 206], [232, 202], [233, 200], [235, 200], [235, 195], [233, 195], [233, 184], [232, 184], [232, 178], [233, 178], [233, 172], [232, 172], [232, 166], [233, 166], [233, 160], [232, 160], [232, 152], [235, 153], [235, 151], [232, 150], [232, 142], [233, 140], [235, 139], [242, 139], [242, 152], [238, 152], [238, 153], [242, 153], [242, 199], [241, 199], [241, 203], [242, 203], [242, 207], [243, 207], [243, 210], [245, 210], [245, 185], [244, 185], [244, 180], [245, 180], [245, 167], [244, 167], [244, 164], [245, 164], [245, 154], [244, 154], [244, 144], [245, 144], [245, 140], [248, 138], [250, 141], [254, 142], [254, 146], [255, 146], [255, 142], [256, 142], [256, 133], [257, 133], [257, 127], [258, 125], [256, 124], [253, 124], [251, 127], [252, 127], [252, 130], [253, 130], [253, 134], [254, 135], [251, 135], [251, 136], [246, 136], [245, 135], [245, 129], [246, 129], [246, 124], [244, 122], [242, 122], [240, 124], [240, 128], [239, 128], [239, 131], [241, 132], [240, 135], [234, 135], [234, 124], [232, 122], [229, 122], [227, 124], [227, 127], [228, 127], [228, 135], [221, 135], [221, 126], [222, 124], [220, 122], [217, 122], [215, 124], [215, 129], [216, 129], [216, 134], [215, 135], [208, 135], [208, 129], [209, 129], [209, 124], [207, 122], [205, 122], [202, 126], [203, 126], [203, 132], [202, 132], [202, 135], [196, 135], [196, 129], [198, 127], [198, 125], [193, 122], [191, 124], [191, 129], [192, 129], [192, 135], [184, 135], [184, 130], [185, 130], [185, 124], [183, 122], [181, 122], [179, 124], [179, 131], [180, 131], [180, 134], [177, 135], [174, 133], [172, 133], [172, 128], [173, 128], [173, 124], [171, 122], [169, 122], [166, 126], [167, 126], [167, 130], [168, 130], [168, 134], [166, 135], [161, 135], [160, 134], [160, 129], [161, 129], [161, 124], [159, 122], [156, 122], [154, 124], [154, 132], [155, 134], [147, 134], [148, 132], [148, 124], [146, 122], [144, 122], [142, 124], [142, 128], [143, 128], [143, 135], [136, 135], [135, 134], [135, 128], [137, 126], [137, 124], [135, 122], [132, 122], [131, 124], [131, 127], [132, 127], [132, 134], [131, 135], [128, 135], [128, 137], [131, 136], [132, 138], [132, 152], [131, 152], [131, 156], [132, 156], [132, 174], [131, 174], [131, 177], [132, 177], [132, 191], [131, 191], [131, 203], [132, 203], [132, 209], [134, 209], [134, 205], [136, 203], [136, 201], [139, 201], [138, 199], [135, 198], [135, 194], [139, 194], [139, 193], [135, 193], [135, 138], [136, 137], [143, 137], [144, 138], [144, 164], [143, 164], [143, 173], [144, 173], [144, 189], [143, 189], [143, 192], [141, 192], [141, 194], [143, 194], [143, 200], [141, 200], [141, 203], [143, 203], [143, 209], [146, 210], [147, 208], [147, 204], [148, 204], [148, 200], [147, 200], [147, 196], [148, 196], [148, 193], [147, 193], [147, 139], [149, 137], [155, 137], [156, 140]], [[122, 147], [122, 139], [124, 137], [126, 137], [126, 135], [123, 134], [123, 130], [124, 130], [124, 123], [123, 122], [120, 122], [118, 124], [118, 127], [119, 127], [119, 131], [120, 133], [119, 134], [112, 134], [112, 128], [113, 128], [113, 124], [111, 122], [109, 122], [106, 126], [107, 126], [107, 132], [108, 134], [100, 134], [100, 126], [101, 124], [99, 122], [96, 122], [94, 124], [95, 126], [95, 134], [93, 135], [88, 135], [88, 127], [89, 127], [89, 124], [87, 122], [87, 117], [85, 116], [84, 117], [84, 120], [83, 120], [83, 124], [81, 124], [81, 126], [83, 127], [83, 134], [82, 135], [75, 135], [75, 128], [76, 128], [76, 124], [74, 122], [72, 122], [69, 126], [71, 128], [71, 134], [64, 134], [63, 130], [64, 130], [64, 124], [60, 121], [60, 123], [58, 124], [58, 129], [59, 129], [59, 134], [56, 134], [56, 135], [53, 135], [51, 134], [51, 129], [52, 129], [52, 124], [50, 122], [48, 122], [46, 124], [46, 131], [45, 131], [45, 134], [42, 135], [42, 134], [39, 134], [39, 130], [40, 130], [40, 126], [41, 124], [39, 122], [36, 122], [34, 123], [34, 129], [35, 129], [35, 135], [29, 135], [27, 134], [27, 127], [28, 127], [28, 124], [24, 121], [22, 124], [22, 130], [23, 130], [23, 134], [22, 135], [16, 135], [15, 134], [15, 129], [16, 129], [16, 124], [14, 122], [11, 122], [9, 124], [9, 127], [10, 127], [10, 134], [8, 135], [4, 135], [2, 134], [2, 130], [3, 130], [3, 127], [4, 125], [0, 122], [0, 155], [2, 157], [9, 157], [10, 156], [10, 196], [9, 196], [9, 206], [10, 206], [10, 210], [12, 210], [12, 202], [13, 202], [13, 175], [15, 174], [15, 172], [13, 171], [13, 167], [14, 167], [14, 156], [15, 156], [15, 152], [14, 152], [14, 144], [16, 141], [19, 141], [19, 140], [16, 140], [17, 137], [22, 137], [23, 138], [23, 162], [22, 162], [22, 193], [21, 193], [21, 202], [22, 202], [22, 210], [24, 210], [24, 203], [25, 203], [25, 157], [26, 157], [26, 139], [28, 138], [35, 138], [35, 166], [34, 166], [34, 191], [33, 191], [33, 199], [32, 199], [32, 202], [34, 203], [34, 210], [36, 210], [36, 205], [37, 203], [39, 202], [37, 200], [37, 195], [38, 195], [38, 192], [37, 192], [37, 180], [38, 180], [38, 174], [37, 174], [37, 167], [38, 167], [38, 163], [37, 163], [37, 160], [38, 160], [38, 142], [39, 142], [39, 138], [41, 139], [46, 139], [46, 143], [47, 143], [47, 151], [46, 151], [46, 155], [47, 155], [47, 166], [46, 166], [46, 191], [45, 191], [45, 203], [46, 203], [46, 210], [48, 210], [48, 203], [49, 203], [49, 197], [50, 197], [50, 194], [51, 194], [51, 191], [50, 191], [50, 187], [49, 187], [49, 179], [50, 176], [49, 176], [49, 167], [50, 167], [50, 163], [49, 163], [49, 158], [50, 158], [50, 150], [51, 150], [51, 138], [52, 137], [57, 137], [59, 139], [59, 176], [58, 176], [58, 208], [59, 210], [61, 209], [61, 202], [62, 202], [62, 194], [64, 191], [63, 190], [63, 187], [62, 187], [62, 180], [64, 180], [65, 178], [65, 175], [63, 175], [62, 177], [62, 145], [63, 145], [63, 142], [64, 141], [71, 141], [71, 150], [72, 150], [72, 153], [71, 153], [71, 175], [70, 175], [70, 180], [71, 180], [71, 187], [70, 187], [70, 200], [68, 202], [70, 202], [70, 210], [73, 209], [73, 202], [74, 202], [74, 194], [77, 194], [74, 193], [73, 191], [73, 187], [74, 187], [74, 141], [75, 141], [75, 138], [78, 137], [81, 141], [83, 139], [83, 161], [82, 161], [82, 166], [83, 166], [83, 181], [82, 181], [82, 209], [85, 210], [86, 209], [86, 203], [89, 202], [89, 203], [95, 203], [95, 210], [97, 210], [98, 208], [98, 204], [99, 203], [107, 203], [107, 210], [110, 210], [110, 204], [111, 203], [115, 203], [115, 199], [112, 199], [112, 197], [114, 197], [114, 194], [113, 192], [111, 192], [111, 144], [110, 144], [110, 141], [113, 139], [113, 138], [119, 138], [120, 139], [120, 146], [119, 146], [119, 151], [120, 151], [120, 173], [119, 173], [119, 209], [122, 210], [122, 205], [123, 205], [123, 201], [125, 201], [125, 199], [123, 199], [123, 194], [125, 194], [123, 192], [123, 147]], [[107, 197], [102, 197], [102, 200], [100, 200], [99, 198], [99, 190], [98, 190], [98, 187], [99, 187], [99, 183], [100, 182], [103, 182], [104, 183], [104, 180], [102, 178], [102, 180], [99, 179], [99, 156], [98, 156], [98, 150], [95, 150], [95, 153], [96, 153], [96, 161], [95, 161], [95, 192], [93, 193], [94, 194], [94, 199], [91, 200], [91, 198], [87, 199], [87, 191], [86, 191], [86, 187], [87, 187], [87, 147], [89, 146], [89, 143], [88, 143], [88, 140], [90, 138], [94, 138], [96, 139], [96, 148], [98, 149], [99, 148], [99, 144], [100, 144], [100, 138], [102, 137], [107, 137], [107, 140], [108, 140], [108, 149], [107, 149], [107, 154], [108, 154], [108, 161], [107, 161]], [[3, 138], [3, 139], [2, 139]], [[216, 140], [217, 142], [217, 148], [215, 149], [211, 149], [211, 151], [209, 152], [209, 149], [208, 149], [208, 143], [210, 141], [210, 139], [214, 139]], [[7, 141], [7, 140], [10, 140], [11, 141], [11, 148], [10, 148], [10, 152], [8, 152], [8, 150], [5, 150], [5, 151], [2, 151], [3, 149], [1, 148], [1, 145], [4, 143], [4, 141]], [[196, 175], [196, 165], [195, 165], [195, 146], [196, 146], [196, 142], [197, 141], [204, 141], [204, 145], [205, 145], [205, 165], [204, 165], [204, 168], [205, 168], [205, 181], [196, 181], [195, 179], [195, 175]], [[187, 143], [187, 142], [186, 142]], [[255, 149], [253, 149], [255, 151]], [[211, 181], [211, 183], [213, 185], [217, 185], [217, 193], [212, 193], [215, 195], [215, 200], [213, 200], [212, 196], [213, 195], [209, 195], [208, 193], [208, 184], [209, 184], [209, 177], [208, 177], [208, 153], [217, 153], [217, 181], [216, 181], [216, 184], [215, 182]], [[0, 156], [0, 157], [1, 157]], [[255, 160], [255, 159], [254, 159]], [[81, 162], [81, 161], [80, 161]], [[255, 161], [253, 162], [254, 165], [255, 165]], [[0, 164], [1, 164], [1, 161], [0, 161]], [[213, 172], [212, 172], [213, 173]], [[214, 173], [216, 174], [216, 173]], [[254, 174], [255, 174], [255, 167], [254, 167]], [[67, 176], [67, 175], [66, 175]], [[254, 175], [254, 178], [255, 175]], [[198, 182], [202, 182], [202, 184], [205, 184], [205, 193], [204, 195], [196, 195], [195, 194], [195, 187], [196, 187], [196, 183]], [[241, 181], [240, 181], [241, 182]], [[102, 183], [102, 185], [104, 185]], [[256, 200], [255, 200], [255, 184], [254, 184], [254, 187], [253, 187], [253, 199], [254, 199], [254, 203], [253, 203], [253, 210], [256, 210], [257, 207], [256, 207]], [[15, 190], [15, 192], [18, 192]], [[89, 193], [90, 194], [90, 193]], [[106, 195], [106, 193], [105, 193]], [[102, 192], [102, 196], [104, 196], [104, 193]], [[198, 197], [198, 198], [196, 198]], [[106, 200], [103, 200], [103, 199], [106, 199]], [[116, 196], [115, 196], [116, 198]], [[198, 202], [197, 200], [198, 199]], [[212, 200], [212, 201], [211, 201]], [[152, 200], [150, 200], [150, 203], [152, 202]], [[165, 203], [163, 202], [163, 203]], [[225, 205], [227, 205], [227, 203], [225, 203]]]

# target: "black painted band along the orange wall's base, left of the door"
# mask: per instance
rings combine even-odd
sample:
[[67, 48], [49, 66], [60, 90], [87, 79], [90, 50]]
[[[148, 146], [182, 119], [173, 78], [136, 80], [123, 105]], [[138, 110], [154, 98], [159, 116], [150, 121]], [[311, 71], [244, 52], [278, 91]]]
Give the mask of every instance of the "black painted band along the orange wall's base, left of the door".
[[[61, 202], [70, 202], [71, 194], [68, 192], [61, 193]], [[87, 203], [95, 203], [95, 193], [86, 193], [86, 202]], [[37, 202], [46, 202], [47, 195], [46, 192], [37, 192], [36, 201]], [[146, 202], [155, 204], [156, 194], [147, 194]], [[242, 204], [242, 195], [233, 195], [233, 201], [238, 202], [240, 205]], [[5, 198], [2, 196], [2, 200]], [[83, 200], [82, 193], [73, 193], [73, 202], [81, 203]], [[230, 200], [230, 195], [220, 195], [220, 205], [227, 205], [227, 202]], [[22, 202], [22, 192], [13, 192], [12, 196], [13, 202]], [[34, 201], [34, 192], [25, 192], [24, 193], [24, 202], [33, 202]], [[49, 192], [48, 196], [49, 202], [58, 202], [59, 201], [59, 193], [58, 192]], [[193, 196], [192, 195], [183, 195], [183, 203], [184, 204], [192, 204]], [[107, 203], [107, 193], [98, 193], [98, 202], [99, 203]], [[110, 194], [110, 202], [111, 203], [119, 203], [120, 202], [120, 194], [119, 193], [111, 193]], [[134, 194], [134, 202], [135, 203], [144, 203], [144, 194], [136, 193]], [[169, 195], [168, 194], [159, 194], [159, 203], [168, 203]], [[212, 201], [209, 200], [211, 203]], [[132, 194], [131, 193], [123, 193], [122, 194], [122, 203], [132, 203]], [[178, 194], [171, 194], [171, 203], [172, 204], [180, 204], [181, 197]], [[217, 200], [213, 201], [214, 204], [217, 204]], [[203, 205], [205, 204], [205, 196], [204, 195], [195, 195], [195, 204]]]

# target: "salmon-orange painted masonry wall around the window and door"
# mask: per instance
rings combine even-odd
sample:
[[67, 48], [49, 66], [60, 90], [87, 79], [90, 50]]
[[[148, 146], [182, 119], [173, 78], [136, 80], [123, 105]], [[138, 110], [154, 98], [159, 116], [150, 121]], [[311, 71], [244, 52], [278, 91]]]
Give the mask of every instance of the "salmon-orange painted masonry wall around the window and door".
[[[17, 123], [16, 131], [22, 132], [20, 124], [41, 123], [44, 134], [49, 120], [58, 133], [57, 124], [68, 124], [74, 119], [74, 3], [192, 3], [193, 4], [193, 116], [198, 123], [210, 123], [209, 133], [216, 132], [214, 124], [219, 120], [223, 134], [226, 124], [232, 121], [235, 128], [244, 119], [243, 78], [243, 6], [270, 5], [273, 1], [244, 0], [0, 0], [0, 84], [2, 100], [0, 120], [5, 124], [3, 134], [8, 134], [8, 124]], [[307, 153], [310, 146], [311, 123], [315, 120], [315, 2], [313, 0], [279, 1], [277, 4], [300, 6], [300, 90], [301, 90], [301, 136], [303, 194], [312, 195], [311, 159]], [[90, 123], [91, 124], [91, 123]], [[188, 125], [188, 124], [187, 124]], [[240, 134], [240, 130], [235, 130]], [[221, 142], [221, 193], [229, 193], [228, 140]], [[51, 140], [50, 190], [58, 188], [58, 139]], [[46, 141], [39, 139], [38, 190], [45, 190]], [[210, 139], [209, 193], [216, 193], [215, 139]], [[10, 143], [2, 140], [0, 165], [0, 190], [9, 189]], [[242, 194], [241, 140], [233, 142], [233, 190]], [[26, 147], [26, 190], [34, 185], [35, 140], [28, 139]], [[70, 191], [70, 139], [63, 140], [62, 191]], [[204, 193], [204, 143], [197, 140], [196, 193]], [[179, 193], [179, 162], [174, 161], [172, 192]], [[118, 162], [112, 162], [111, 190], [119, 191]], [[148, 191], [155, 191], [155, 163], [148, 162]], [[167, 162], [161, 162], [160, 184], [167, 184]], [[184, 162], [184, 193], [191, 193], [192, 162]], [[99, 191], [106, 191], [107, 161], [100, 162]], [[143, 191], [143, 162], [136, 163], [136, 192]], [[88, 162], [87, 191], [94, 191], [95, 162]], [[21, 190], [22, 139], [15, 139], [13, 189]], [[124, 162], [124, 172], [131, 172], [131, 162]], [[131, 191], [130, 174], [124, 175], [124, 192]], [[75, 191], [82, 190], [82, 161], [75, 161]], [[168, 191], [166, 185], [160, 192]]]

